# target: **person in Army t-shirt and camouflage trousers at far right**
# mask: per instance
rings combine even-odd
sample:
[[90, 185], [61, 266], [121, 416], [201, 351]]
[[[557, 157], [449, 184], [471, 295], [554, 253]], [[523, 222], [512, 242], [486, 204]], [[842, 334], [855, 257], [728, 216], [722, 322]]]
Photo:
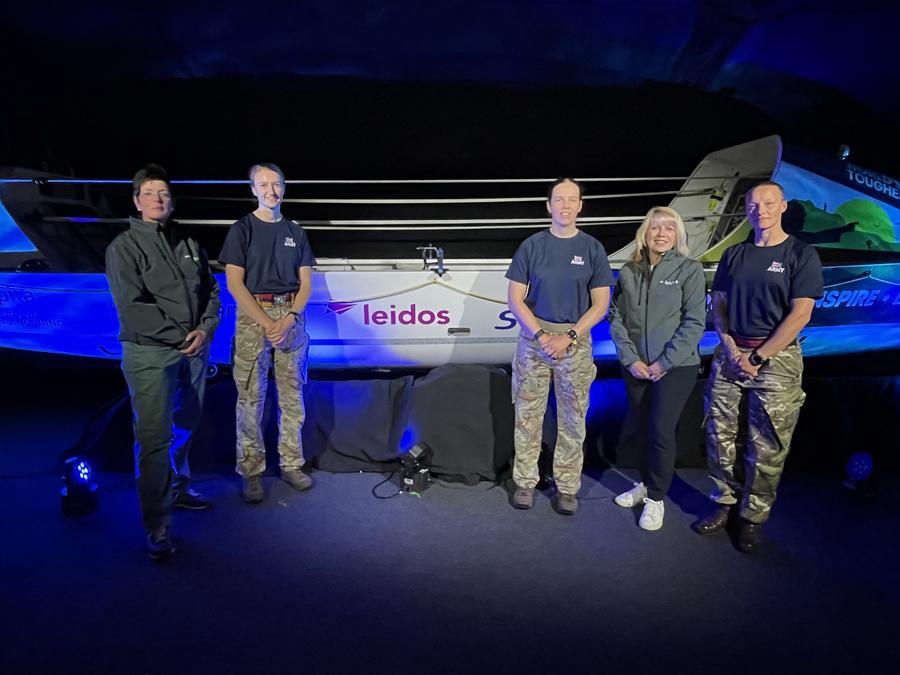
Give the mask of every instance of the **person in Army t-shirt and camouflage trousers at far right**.
[[[753, 553], [806, 398], [797, 335], [812, 316], [823, 282], [816, 250], [782, 227], [787, 202], [781, 186], [757, 185], [747, 193], [746, 204], [753, 239], [725, 251], [713, 281], [720, 344], [706, 388], [706, 445], [716, 486], [711, 498], [719, 506], [696, 529], [701, 534], [722, 530], [740, 496], [738, 546]], [[742, 430], [745, 404], [747, 428]], [[745, 447], [739, 448], [739, 438]], [[740, 450], [746, 455], [743, 484], [734, 471]]]

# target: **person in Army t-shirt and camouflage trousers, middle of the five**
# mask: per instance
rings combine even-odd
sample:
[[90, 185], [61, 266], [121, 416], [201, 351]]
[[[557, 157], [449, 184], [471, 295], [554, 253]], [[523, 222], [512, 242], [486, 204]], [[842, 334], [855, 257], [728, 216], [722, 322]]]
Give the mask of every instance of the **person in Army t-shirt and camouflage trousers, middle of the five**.
[[521, 328], [513, 360], [513, 506], [530, 509], [534, 504], [552, 381], [559, 423], [553, 476], [557, 510], [564, 515], [578, 508], [585, 415], [597, 372], [591, 328], [606, 314], [613, 283], [602, 244], [576, 227], [581, 192], [571, 178], [560, 178], [550, 186], [550, 228], [522, 242], [506, 273], [509, 308]]

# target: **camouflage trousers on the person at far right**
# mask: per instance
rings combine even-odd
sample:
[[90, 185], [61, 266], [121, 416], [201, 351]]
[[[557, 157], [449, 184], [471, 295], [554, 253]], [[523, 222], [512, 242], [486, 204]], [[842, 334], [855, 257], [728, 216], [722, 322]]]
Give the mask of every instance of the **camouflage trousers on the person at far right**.
[[[748, 350], [745, 350], [748, 351]], [[721, 345], [706, 386], [706, 452], [715, 489], [710, 498], [736, 504], [753, 523], [769, 518], [775, 491], [791, 447], [806, 394], [800, 388], [803, 358], [790, 345], [772, 357], [753, 379], [738, 379]], [[743, 481], [735, 473], [744, 456]]]

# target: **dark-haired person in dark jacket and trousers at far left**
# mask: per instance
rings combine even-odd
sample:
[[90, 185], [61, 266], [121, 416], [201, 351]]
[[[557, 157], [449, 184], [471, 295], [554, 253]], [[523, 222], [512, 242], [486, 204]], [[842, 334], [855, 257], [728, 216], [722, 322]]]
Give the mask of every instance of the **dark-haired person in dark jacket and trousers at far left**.
[[132, 185], [141, 217], [106, 249], [106, 276], [134, 412], [141, 515], [149, 555], [160, 560], [175, 551], [173, 505], [209, 506], [189, 487], [188, 449], [203, 407], [219, 287], [204, 251], [170, 220], [175, 203], [165, 169], [150, 164]]

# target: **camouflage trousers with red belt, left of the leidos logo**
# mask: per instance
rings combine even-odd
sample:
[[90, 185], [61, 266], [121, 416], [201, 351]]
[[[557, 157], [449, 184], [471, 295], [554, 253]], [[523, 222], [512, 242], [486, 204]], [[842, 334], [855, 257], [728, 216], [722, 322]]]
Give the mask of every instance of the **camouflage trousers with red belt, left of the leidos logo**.
[[[272, 319], [288, 314], [290, 307], [264, 307]], [[306, 315], [296, 317], [280, 347], [274, 347], [262, 326], [238, 310], [234, 331], [232, 374], [237, 386], [237, 472], [259, 476], [266, 470], [263, 441], [263, 409], [269, 384], [269, 368], [275, 371], [278, 389], [278, 455], [282, 470], [303, 466], [301, 430], [306, 417], [303, 384], [309, 336]]]

